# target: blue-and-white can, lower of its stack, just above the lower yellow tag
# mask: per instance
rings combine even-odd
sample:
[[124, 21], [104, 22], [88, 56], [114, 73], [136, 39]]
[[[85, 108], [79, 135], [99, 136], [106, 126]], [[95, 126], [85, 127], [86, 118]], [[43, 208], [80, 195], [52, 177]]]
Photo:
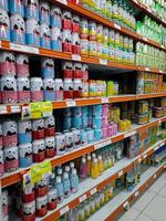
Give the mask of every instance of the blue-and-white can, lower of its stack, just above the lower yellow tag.
[[32, 144], [23, 144], [19, 146], [19, 167], [30, 167], [33, 162]]

